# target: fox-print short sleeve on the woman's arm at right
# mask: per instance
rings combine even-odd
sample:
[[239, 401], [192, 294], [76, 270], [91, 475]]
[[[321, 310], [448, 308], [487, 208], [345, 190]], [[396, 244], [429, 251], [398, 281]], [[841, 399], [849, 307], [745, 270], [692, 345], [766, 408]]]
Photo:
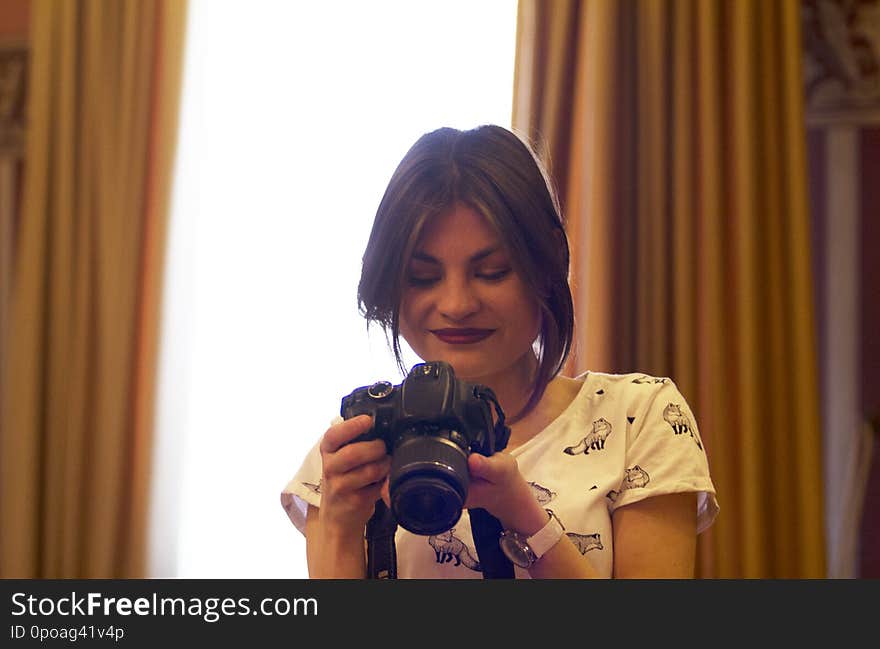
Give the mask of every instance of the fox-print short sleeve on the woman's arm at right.
[[652, 496], [695, 492], [699, 534], [719, 508], [696, 418], [671, 379], [632, 389], [624, 477], [611, 509]]

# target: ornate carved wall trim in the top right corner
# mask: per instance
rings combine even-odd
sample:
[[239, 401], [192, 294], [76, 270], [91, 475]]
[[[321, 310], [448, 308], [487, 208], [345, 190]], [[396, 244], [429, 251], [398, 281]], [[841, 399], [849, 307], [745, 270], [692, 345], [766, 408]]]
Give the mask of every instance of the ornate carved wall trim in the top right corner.
[[880, 0], [801, 9], [807, 124], [880, 124]]

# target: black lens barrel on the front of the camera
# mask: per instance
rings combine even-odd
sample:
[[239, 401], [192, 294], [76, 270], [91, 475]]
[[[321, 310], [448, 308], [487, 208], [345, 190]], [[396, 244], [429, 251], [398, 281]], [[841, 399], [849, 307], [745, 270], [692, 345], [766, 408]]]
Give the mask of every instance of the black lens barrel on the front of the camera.
[[391, 459], [391, 508], [413, 534], [440, 534], [461, 518], [468, 488], [467, 454], [438, 435], [405, 437]]

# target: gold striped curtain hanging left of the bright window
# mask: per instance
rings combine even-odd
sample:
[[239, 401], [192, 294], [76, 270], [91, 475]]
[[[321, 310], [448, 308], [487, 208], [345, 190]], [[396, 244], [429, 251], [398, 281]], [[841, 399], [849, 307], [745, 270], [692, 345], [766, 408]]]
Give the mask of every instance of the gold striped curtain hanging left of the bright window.
[[183, 0], [34, 0], [0, 576], [142, 577]]

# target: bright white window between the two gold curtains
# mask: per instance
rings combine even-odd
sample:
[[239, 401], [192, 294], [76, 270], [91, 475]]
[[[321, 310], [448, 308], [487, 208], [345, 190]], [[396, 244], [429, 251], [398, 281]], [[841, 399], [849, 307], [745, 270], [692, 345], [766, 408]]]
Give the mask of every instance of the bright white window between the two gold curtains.
[[355, 387], [391, 173], [438, 126], [509, 126], [516, 0], [190, 0], [160, 367], [153, 577], [306, 577], [279, 493]]

